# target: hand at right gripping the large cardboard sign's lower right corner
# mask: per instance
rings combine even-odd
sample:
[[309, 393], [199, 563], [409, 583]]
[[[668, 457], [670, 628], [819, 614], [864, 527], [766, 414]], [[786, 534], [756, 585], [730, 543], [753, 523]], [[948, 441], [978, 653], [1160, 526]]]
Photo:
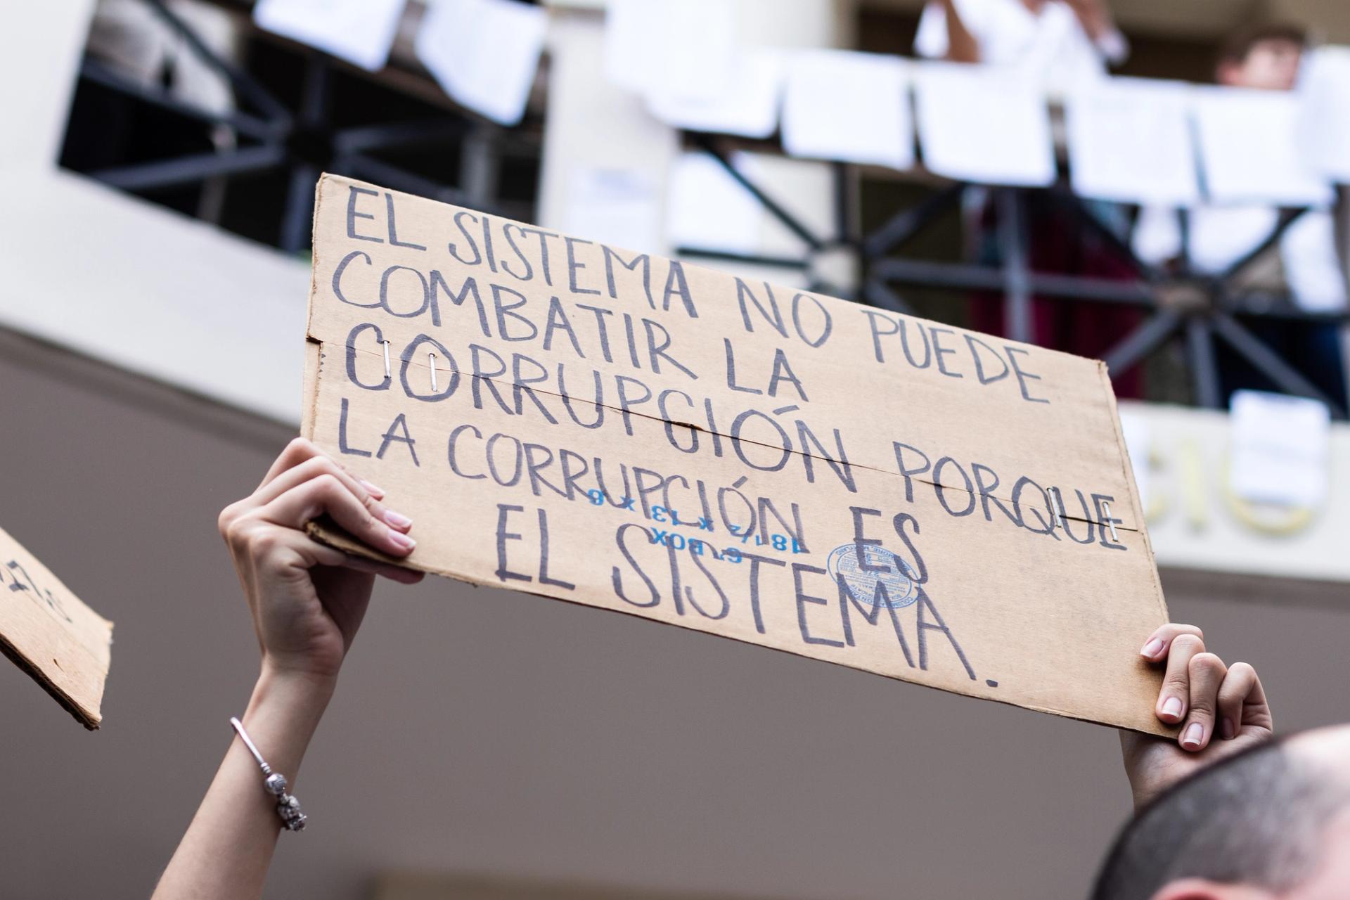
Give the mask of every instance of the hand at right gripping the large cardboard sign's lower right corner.
[[1164, 625], [1139, 653], [1165, 669], [1153, 714], [1181, 730], [1176, 741], [1120, 731], [1135, 808], [1192, 772], [1274, 735], [1257, 671], [1210, 653], [1196, 626]]

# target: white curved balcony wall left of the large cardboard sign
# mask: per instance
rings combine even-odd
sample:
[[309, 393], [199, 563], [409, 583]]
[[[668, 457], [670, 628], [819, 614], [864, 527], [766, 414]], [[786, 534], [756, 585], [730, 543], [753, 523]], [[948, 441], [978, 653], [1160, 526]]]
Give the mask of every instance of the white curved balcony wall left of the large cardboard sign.
[[297, 422], [308, 259], [55, 167], [92, 8], [0, 28], [0, 325]]

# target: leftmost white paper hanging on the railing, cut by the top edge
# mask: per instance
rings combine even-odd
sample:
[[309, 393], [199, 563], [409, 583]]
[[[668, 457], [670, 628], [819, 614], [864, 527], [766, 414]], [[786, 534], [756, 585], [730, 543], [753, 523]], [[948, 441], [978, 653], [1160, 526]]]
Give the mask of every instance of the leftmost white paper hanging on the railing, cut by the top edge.
[[258, 0], [259, 28], [378, 72], [389, 59], [406, 0]]

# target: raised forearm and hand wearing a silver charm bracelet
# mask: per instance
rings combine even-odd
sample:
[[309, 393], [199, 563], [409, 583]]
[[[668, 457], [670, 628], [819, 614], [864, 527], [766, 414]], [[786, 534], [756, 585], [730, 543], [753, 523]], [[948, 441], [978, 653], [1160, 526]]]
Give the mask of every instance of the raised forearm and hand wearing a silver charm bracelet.
[[[327, 514], [370, 546], [404, 557], [410, 522], [381, 505], [383, 491], [348, 474], [317, 447], [297, 439], [250, 497], [220, 514], [262, 664], [243, 714], [258, 750], [294, 789], [300, 761], [338, 681], [343, 658], [366, 614], [375, 575], [421, 580], [412, 572], [324, 546], [304, 526]], [[261, 897], [281, 831], [277, 797], [225, 719], [230, 749], [154, 900]]]

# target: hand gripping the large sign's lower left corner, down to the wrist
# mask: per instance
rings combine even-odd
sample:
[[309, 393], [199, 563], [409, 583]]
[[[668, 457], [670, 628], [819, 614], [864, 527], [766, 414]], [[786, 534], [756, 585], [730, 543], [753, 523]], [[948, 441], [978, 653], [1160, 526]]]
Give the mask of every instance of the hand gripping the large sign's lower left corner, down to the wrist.
[[258, 488], [220, 513], [252, 614], [265, 672], [333, 680], [366, 614], [375, 575], [412, 584], [421, 572], [317, 542], [305, 524], [327, 514], [350, 534], [404, 559], [412, 521], [386, 509], [383, 491], [297, 437]]

